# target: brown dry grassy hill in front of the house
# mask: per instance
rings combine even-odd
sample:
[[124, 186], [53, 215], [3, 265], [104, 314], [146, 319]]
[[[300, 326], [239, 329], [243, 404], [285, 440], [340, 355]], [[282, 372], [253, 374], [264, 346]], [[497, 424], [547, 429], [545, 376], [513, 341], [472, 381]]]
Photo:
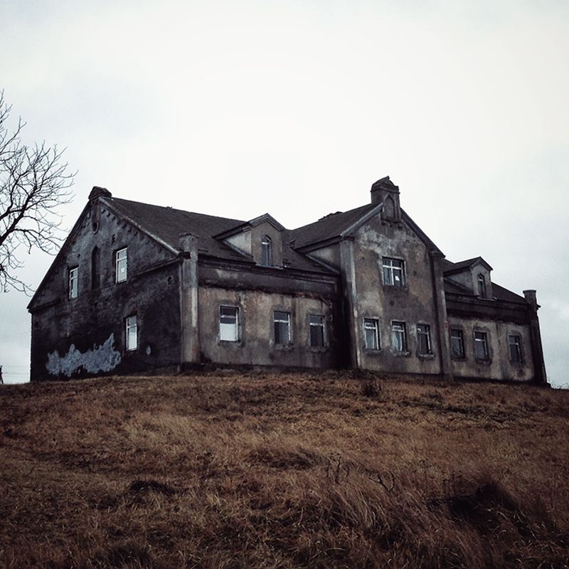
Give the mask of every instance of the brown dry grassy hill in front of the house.
[[3, 568], [569, 564], [568, 391], [212, 373], [0, 410]]

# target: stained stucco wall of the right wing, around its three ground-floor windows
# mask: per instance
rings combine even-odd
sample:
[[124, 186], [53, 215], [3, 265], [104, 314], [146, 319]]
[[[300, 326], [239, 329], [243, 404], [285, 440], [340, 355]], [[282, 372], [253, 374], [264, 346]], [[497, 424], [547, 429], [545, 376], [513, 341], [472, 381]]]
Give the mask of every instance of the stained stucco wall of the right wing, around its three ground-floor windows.
[[[531, 381], [534, 376], [531, 336], [527, 324], [483, 318], [449, 317], [450, 329], [461, 329], [464, 336], [464, 359], [453, 359], [452, 370], [457, 378], [483, 378], [495, 380]], [[474, 331], [486, 332], [489, 359], [474, 357]], [[508, 336], [521, 337], [521, 363], [512, 363]]]

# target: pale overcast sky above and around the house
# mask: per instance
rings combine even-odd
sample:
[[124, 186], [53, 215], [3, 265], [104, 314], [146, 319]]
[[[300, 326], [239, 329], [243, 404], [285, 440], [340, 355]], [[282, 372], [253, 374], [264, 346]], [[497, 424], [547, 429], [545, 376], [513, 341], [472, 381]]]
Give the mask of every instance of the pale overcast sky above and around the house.
[[[114, 196], [287, 228], [389, 175], [453, 261], [537, 289], [569, 383], [569, 2], [0, 2], [0, 89], [26, 142], [67, 147], [70, 228]], [[28, 257], [36, 287], [51, 257]], [[0, 365], [29, 372], [28, 299], [0, 293]]]

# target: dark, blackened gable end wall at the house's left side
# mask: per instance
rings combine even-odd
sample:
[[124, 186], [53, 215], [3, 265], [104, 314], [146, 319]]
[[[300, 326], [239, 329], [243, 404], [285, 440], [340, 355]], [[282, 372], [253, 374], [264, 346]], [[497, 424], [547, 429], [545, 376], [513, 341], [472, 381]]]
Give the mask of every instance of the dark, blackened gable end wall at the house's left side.
[[[102, 208], [97, 230], [90, 211], [34, 300], [31, 379], [132, 373], [180, 361], [179, 265], [146, 235]], [[93, 248], [100, 250], [99, 285], [92, 287]], [[115, 282], [115, 251], [127, 247], [128, 277]], [[78, 297], [68, 271], [78, 267]], [[125, 319], [137, 315], [138, 348], [126, 351]]]

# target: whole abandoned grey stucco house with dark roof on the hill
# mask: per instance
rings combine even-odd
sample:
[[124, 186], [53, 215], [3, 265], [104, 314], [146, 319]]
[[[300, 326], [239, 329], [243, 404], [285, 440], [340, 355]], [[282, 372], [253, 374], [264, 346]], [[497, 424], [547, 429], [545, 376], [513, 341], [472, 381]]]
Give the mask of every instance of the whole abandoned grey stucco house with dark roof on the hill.
[[31, 379], [212, 363], [546, 383], [536, 292], [491, 270], [446, 260], [389, 177], [294, 230], [94, 187], [28, 306]]

